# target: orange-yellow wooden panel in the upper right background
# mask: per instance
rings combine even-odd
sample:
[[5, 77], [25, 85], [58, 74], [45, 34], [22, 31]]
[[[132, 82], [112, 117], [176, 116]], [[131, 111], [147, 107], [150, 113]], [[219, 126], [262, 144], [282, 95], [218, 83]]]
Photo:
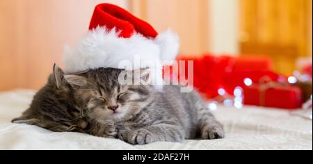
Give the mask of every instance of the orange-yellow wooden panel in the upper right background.
[[239, 0], [241, 52], [271, 56], [291, 74], [296, 59], [312, 56], [312, 0]]

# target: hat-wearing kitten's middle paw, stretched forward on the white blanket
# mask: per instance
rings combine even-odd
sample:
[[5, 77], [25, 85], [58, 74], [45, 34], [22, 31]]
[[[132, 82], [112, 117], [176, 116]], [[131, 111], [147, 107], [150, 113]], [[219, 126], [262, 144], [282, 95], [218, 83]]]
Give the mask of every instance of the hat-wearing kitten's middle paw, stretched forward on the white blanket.
[[131, 131], [127, 136], [127, 141], [133, 145], [145, 145], [154, 142], [153, 134], [146, 129]]

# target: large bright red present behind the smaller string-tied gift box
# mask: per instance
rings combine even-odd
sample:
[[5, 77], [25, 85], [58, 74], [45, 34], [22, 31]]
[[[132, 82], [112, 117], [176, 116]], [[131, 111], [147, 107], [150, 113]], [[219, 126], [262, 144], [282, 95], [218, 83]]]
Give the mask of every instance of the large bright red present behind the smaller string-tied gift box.
[[183, 77], [176, 72], [179, 80], [188, 79], [187, 72], [191, 68], [188, 68], [187, 62], [188, 60], [193, 61], [193, 86], [208, 99], [217, 97], [220, 88], [224, 88], [232, 95], [234, 88], [243, 85], [243, 79], [248, 76], [255, 81], [265, 75], [272, 76], [273, 80], [278, 78], [276, 74], [269, 71], [272, 62], [267, 57], [205, 54], [201, 57], [181, 56], [177, 60], [184, 63], [184, 68], [179, 65], [179, 69], [185, 69]]

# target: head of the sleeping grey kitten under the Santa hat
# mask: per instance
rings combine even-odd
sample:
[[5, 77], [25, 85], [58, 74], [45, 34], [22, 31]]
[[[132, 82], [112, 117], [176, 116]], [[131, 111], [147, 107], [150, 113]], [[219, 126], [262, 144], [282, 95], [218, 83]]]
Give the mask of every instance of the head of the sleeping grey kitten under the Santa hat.
[[[154, 89], [147, 82], [150, 73], [146, 70], [124, 71], [123, 69], [100, 68], [75, 75], [74, 99], [83, 106], [83, 115], [102, 122], [120, 122], [136, 115], [154, 98]], [[131, 76], [135, 84], [120, 83], [120, 77]]]

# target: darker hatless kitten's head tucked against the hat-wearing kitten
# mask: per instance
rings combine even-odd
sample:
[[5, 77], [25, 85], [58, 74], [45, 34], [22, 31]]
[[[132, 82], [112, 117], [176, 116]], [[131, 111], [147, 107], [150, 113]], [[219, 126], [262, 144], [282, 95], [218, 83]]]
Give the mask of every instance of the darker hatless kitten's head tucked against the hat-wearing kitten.
[[81, 107], [72, 98], [77, 76], [67, 76], [54, 65], [47, 84], [33, 97], [31, 106], [13, 123], [41, 126], [51, 131], [83, 131], [88, 126], [81, 119]]

